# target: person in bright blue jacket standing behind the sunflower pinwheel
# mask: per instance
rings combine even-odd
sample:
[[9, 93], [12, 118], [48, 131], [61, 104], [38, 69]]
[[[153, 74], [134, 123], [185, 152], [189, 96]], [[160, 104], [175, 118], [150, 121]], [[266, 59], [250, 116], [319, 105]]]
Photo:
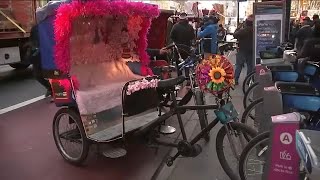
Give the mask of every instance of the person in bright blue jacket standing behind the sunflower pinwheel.
[[216, 16], [205, 16], [203, 18], [204, 25], [198, 32], [198, 38], [205, 39], [201, 46], [204, 53], [204, 58], [207, 59], [212, 54], [217, 54], [218, 51], [218, 25], [219, 18]]

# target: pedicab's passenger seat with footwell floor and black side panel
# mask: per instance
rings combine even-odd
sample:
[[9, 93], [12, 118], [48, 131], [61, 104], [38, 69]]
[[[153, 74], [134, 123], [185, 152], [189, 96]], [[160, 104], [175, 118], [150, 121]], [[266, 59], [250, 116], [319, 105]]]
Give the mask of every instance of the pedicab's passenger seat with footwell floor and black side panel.
[[76, 101], [86, 133], [94, 141], [116, 139], [158, 117], [155, 88], [127, 94], [129, 85], [144, 77], [133, 74], [122, 61], [73, 66], [71, 74], [79, 81]]

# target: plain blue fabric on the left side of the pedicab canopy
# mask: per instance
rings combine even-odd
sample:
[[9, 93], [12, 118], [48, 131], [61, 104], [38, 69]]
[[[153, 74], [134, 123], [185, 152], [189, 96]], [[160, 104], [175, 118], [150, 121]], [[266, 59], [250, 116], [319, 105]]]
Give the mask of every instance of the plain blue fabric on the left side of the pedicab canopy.
[[38, 24], [39, 50], [41, 55], [41, 64], [44, 70], [57, 69], [54, 62], [54, 19], [55, 17], [51, 16]]

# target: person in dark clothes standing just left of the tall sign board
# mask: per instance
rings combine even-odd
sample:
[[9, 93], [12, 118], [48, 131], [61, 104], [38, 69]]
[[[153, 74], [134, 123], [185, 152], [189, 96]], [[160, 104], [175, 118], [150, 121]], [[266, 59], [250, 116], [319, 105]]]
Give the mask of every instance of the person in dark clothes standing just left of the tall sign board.
[[244, 64], [247, 65], [247, 75], [253, 71], [253, 15], [249, 15], [233, 34], [238, 40], [239, 51], [236, 55], [235, 84], [239, 84], [239, 77]]

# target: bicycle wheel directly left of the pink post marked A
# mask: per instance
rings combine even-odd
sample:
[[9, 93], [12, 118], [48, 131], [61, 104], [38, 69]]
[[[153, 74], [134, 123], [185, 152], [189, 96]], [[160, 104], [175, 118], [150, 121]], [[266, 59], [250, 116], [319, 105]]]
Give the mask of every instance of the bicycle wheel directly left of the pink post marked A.
[[264, 132], [253, 138], [243, 149], [239, 160], [241, 180], [262, 179], [267, 160], [270, 132]]

